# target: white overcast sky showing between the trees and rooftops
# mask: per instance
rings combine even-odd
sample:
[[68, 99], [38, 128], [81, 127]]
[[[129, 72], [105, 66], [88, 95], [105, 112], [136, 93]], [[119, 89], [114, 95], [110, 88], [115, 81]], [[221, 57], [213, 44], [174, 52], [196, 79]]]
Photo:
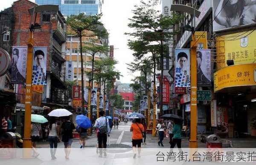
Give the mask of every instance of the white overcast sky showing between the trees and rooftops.
[[[14, 1], [16, 0], [1, 0], [0, 10], [10, 7]], [[35, 2], [35, 0], [31, 1]], [[140, 0], [104, 0], [102, 6], [102, 22], [110, 33], [109, 44], [114, 45], [114, 58], [119, 62], [116, 69], [123, 75], [120, 79], [122, 83], [131, 83], [134, 76], [134, 73], [132, 75], [126, 68], [126, 63], [132, 62], [133, 56], [127, 46], [128, 36], [124, 33], [131, 31], [127, 26], [128, 18], [133, 16], [131, 10], [138, 3]]]

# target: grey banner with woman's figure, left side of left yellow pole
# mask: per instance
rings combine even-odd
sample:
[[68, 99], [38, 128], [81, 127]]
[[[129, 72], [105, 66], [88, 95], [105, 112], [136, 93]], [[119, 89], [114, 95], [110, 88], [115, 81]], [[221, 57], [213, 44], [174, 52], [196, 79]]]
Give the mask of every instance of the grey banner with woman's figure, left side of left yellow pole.
[[27, 52], [27, 47], [12, 47], [12, 84], [25, 84]]

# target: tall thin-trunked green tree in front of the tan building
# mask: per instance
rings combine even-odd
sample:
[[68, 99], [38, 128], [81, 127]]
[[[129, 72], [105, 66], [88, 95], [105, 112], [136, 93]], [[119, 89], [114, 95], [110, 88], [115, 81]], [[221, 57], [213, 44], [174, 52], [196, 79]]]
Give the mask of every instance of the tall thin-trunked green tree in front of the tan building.
[[[71, 15], [67, 17], [67, 25], [70, 27], [70, 34], [78, 36], [80, 42], [80, 56], [81, 56], [81, 88], [82, 98], [84, 98], [84, 66], [83, 66], [83, 53], [82, 53], [82, 36], [87, 37], [104, 37], [108, 32], [103, 27], [100, 19], [102, 14], [95, 16], [86, 16], [84, 13], [78, 15]], [[82, 99], [82, 112], [84, 112], [84, 99]]]

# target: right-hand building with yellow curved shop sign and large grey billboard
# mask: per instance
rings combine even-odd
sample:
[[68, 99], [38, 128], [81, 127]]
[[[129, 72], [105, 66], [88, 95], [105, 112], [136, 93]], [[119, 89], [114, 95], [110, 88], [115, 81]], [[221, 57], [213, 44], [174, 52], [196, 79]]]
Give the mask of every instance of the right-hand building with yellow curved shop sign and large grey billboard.
[[[246, 21], [256, 3], [252, 0], [237, 1], [236, 5], [243, 3], [242, 6], [247, 8], [237, 10], [230, 2], [221, 2], [173, 0], [173, 4], [191, 6], [201, 12], [193, 25], [192, 15], [179, 12], [184, 19], [173, 29], [178, 32], [174, 47], [190, 48], [192, 32], [185, 31], [185, 25], [194, 26], [195, 31], [207, 31], [204, 48], [211, 50], [211, 84], [198, 83], [197, 87], [198, 91], [211, 91], [211, 99], [198, 101], [198, 131], [214, 132], [222, 137], [244, 136], [253, 132], [250, 123], [256, 117], [256, 65], [253, 64], [256, 60], [255, 18]], [[241, 20], [239, 15], [243, 15]], [[202, 61], [200, 68], [204, 70], [202, 64], [207, 60], [200, 60], [200, 53], [198, 55], [198, 61]], [[176, 87], [172, 91], [175, 93], [172, 97], [175, 109], [178, 115], [184, 117], [185, 125], [190, 120], [189, 91], [189, 88], [181, 90]]]

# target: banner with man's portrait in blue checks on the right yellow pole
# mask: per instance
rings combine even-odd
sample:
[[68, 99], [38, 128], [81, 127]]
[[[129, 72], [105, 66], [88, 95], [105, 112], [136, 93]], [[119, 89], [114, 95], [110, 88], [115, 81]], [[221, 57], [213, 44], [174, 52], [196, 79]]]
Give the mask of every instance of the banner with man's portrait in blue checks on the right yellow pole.
[[175, 87], [190, 87], [190, 49], [175, 49]]

